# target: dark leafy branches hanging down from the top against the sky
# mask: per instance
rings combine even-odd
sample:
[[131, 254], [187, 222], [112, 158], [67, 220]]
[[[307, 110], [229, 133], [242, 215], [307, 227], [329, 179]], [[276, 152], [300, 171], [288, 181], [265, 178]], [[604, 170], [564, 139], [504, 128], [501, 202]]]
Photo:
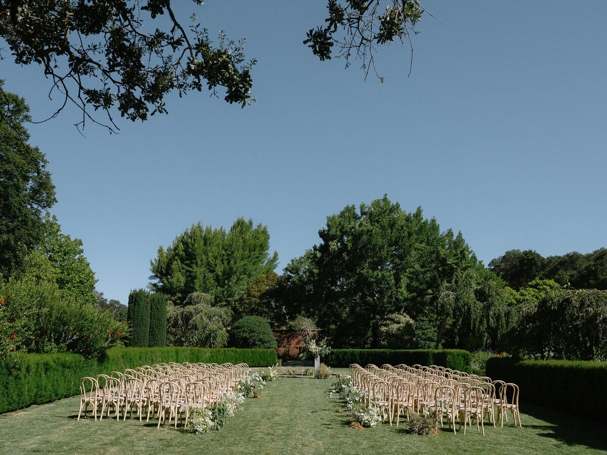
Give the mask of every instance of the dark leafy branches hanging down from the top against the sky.
[[[202, 6], [202, 0], [192, 0]], [[130, 120], [166, 112], [164, 96], [204, 87], [228, 103], [246, 106], [251, 95], [245, 39], [219, 32], [217, 42], [192, 15], [191, 23], [175, 13], [171, 0], [0, 0], [0, 37], [16, 64], [41, 66], [51, 80], [50, 93], [61, 94], [56, 116], [67, 103], [83, 115], [76, 126], [97, 122], [89, 107], [106, 112], [105, 126], [117, 126], [112, 108]], [[375, 68], [378, 45], [407, 40], [423, 10], [418, 0], [328, 0], [326, 27], [310, 30], [304, 43], [321, 60], [341, 56], [362, 59], [366, 73]], [[336, 38], [337, 30], [345, 33]], [[341, 32], [339, 32], [341, 33]], [[303, 35], [303, 30], [302, 30]], [[341, 35], [340, 35], [341, 36]], [[336, 44], [337, 52], [332, 52]], [[412, 48], [413, 49], [413, 48]], [[382, 79], [383, 81], [383, 79]], [[0, 103], [7, 99], [0, 87]]]

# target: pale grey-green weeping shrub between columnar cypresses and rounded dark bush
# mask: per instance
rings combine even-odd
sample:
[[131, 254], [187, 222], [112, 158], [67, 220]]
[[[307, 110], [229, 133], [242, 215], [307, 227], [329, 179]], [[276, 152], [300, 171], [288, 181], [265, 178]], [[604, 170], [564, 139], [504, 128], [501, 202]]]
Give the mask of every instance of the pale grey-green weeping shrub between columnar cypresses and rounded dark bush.
[[223, 348], [228, 344], [232, 320], [229, 308], [211, 306], [211, 296], [192, 292], [183, 305], [168, 304], [168, 344], [198, 348]]

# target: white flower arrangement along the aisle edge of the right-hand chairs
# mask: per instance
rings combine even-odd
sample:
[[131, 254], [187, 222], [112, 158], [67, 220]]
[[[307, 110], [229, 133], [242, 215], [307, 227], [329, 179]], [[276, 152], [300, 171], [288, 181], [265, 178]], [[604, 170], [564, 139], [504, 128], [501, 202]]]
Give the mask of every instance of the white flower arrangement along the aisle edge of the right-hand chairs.
[[350, 375], [342, 375], [337, 378], [329, 396], [333, 397], [334, 393], [339, 394], [339, 397], [344, 400], [350, 425], [358, 424], [365, 428], [373, 428], [384, 421], [379, 406], [375, 402], [368, 403], [367, 391], [356, 387]]

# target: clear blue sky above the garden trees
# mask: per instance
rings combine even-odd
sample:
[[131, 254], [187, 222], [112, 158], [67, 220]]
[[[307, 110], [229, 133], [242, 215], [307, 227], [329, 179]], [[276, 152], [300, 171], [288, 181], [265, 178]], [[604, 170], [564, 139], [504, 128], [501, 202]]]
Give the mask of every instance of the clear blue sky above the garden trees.
[[[409, 77], [407, 48], [380, 49], [384, 84], [302, 44], [326, 1], [179, 4], [212, 36], [246, 36], [257, 104], [195, 92], [143, 124], [116, 114], [120, 135], [88, 124], [81, 136], [73, 109], [29, 126], [52, 213], [107, 298], [126, 303], [158, 246], [198, 221], [266, 224], [280, 272], [327, 215], [386, 193], [461, 231], [486, 264], [509, 249], [607, 246], [607, 2], [422, 2], [447, 26], [424, 16]], [[42, 120], [56, 107], [49, 82], [4, 55], [5, 89]]]

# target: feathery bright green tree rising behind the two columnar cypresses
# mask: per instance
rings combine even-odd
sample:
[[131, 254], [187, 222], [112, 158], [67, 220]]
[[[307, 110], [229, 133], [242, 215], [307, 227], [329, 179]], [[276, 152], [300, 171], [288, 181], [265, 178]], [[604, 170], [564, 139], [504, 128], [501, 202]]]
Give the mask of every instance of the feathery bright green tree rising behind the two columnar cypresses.
[[150, 287], [176, 305], [192, 292], [211, 295], [214, 306], [235, 309], [251, 283], [273, 271], [278, 253], [270, 254], [266, 226], [238, 218], [228, 232], [194, 224], [175, 237], [166, 248], [158, 248], [151, 263]]

